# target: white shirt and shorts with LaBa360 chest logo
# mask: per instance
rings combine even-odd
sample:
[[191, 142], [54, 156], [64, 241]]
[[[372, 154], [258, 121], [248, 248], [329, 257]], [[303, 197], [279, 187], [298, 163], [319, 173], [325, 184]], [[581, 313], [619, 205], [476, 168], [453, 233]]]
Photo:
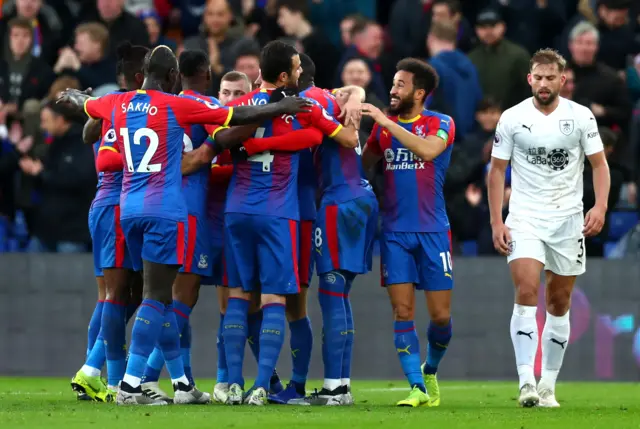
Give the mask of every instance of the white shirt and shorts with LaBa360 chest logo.
[[584, 159], [603, 150], [591, 110], [565, 98], [549, 115], [533, 97], [502, 114], [491, 156], [511, 161], [507, 261], [533, 258], [564, 276], [585, 272]]

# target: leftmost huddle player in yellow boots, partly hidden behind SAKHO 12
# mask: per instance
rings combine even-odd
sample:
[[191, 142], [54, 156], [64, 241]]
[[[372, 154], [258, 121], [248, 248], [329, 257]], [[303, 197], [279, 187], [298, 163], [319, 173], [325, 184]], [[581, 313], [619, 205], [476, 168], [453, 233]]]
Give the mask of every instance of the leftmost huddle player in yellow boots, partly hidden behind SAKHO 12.
[[[132, 46], [130, 43], [118, 47], [118, 77], [119, 80], [123, 80], [126, 88], [134, 90], [142, 85], [143, 61], [148, 51], [149, 49], [143, 46]], [[89, 230], [93, 241], [94, 271], [99, 283], [103, 283], [102, 301], [99, 302], [101, 311], [95, 317], [96, 330], [99, 333], [85, 364], [73, 377], [71, 384], [74, 390], [98, 401], [104, 401], [111, 399], [108, 396], [112, 396], [117, 390], [118, 383], [124, 376], [126, 321], [137, 308], [139, 301], [131, 302], [132, 265], [120, 226], [122, 162], [118, 163], [119, 171], [104, 171], [101, 165], [101, 154], [117, 152], [116, 134], [111, 121], [107, 120], [98, 123], [92, 123], [90, 120], [86, 129], [92, 130], [96, 126], [101, 126], [99, 140], [93, 144], [98, 186], [89, 210]], [[91, 134], [91, 131], [83, 133], [85, 143], [93, 143], [97, 139]], [[103, 388], [100, 378], [105, 360], [107, 389]]]

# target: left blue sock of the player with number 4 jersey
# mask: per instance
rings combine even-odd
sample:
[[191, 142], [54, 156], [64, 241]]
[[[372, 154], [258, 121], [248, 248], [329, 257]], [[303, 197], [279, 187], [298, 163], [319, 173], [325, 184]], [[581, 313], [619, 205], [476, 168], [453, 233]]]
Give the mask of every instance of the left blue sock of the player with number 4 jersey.
[[227, 368], [229, 370], [229, 384], [239, 384], [243, 388], [242, 364], [244, 363], [244, 346], [248, 335], [248, 312], [249, 301], [229, 298], [222, 328]]

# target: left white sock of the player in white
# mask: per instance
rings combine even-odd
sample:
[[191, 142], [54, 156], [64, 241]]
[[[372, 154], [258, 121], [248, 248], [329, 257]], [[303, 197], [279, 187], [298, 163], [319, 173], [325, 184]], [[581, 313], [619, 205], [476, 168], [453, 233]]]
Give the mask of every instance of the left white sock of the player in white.
[[533, 365], [538, 350], [537, 307], [515, 304], [511, 316], [511, 341], [516, 354], [516, 366], [520, 388], [525, 384], [536, 385]]

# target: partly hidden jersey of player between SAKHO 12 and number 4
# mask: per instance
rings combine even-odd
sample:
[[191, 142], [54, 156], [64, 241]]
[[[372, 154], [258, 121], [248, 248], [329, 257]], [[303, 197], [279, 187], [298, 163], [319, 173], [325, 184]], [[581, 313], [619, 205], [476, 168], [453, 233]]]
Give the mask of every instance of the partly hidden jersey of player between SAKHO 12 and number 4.
[[[195, 100], [207, 100], [208, 102], [220, 106], [220, 102], [215, 97], [199, 94], [195, 91], [183, 91], [181, 97]], [[203, 125], [187, 125], [184, 128], [184, 152], [191, 152], [202, 146], [209, 134]], [[207, 212], [207, 189], [209, 185], [209, 166], [205, 165], [198, 171], [182, 178], [182, 191], [187, 203], [187, 211], [191, 215], [201, 216]]]

